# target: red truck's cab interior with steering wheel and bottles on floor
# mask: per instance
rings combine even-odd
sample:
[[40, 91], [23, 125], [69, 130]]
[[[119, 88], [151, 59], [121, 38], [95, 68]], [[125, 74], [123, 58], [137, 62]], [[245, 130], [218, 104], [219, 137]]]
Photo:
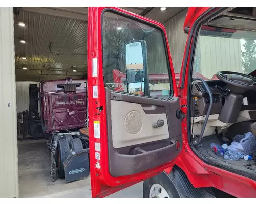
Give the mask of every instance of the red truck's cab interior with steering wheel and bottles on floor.
[[[255, 28], [255, 7], [232, 7], [201, 25], [190, 71], [188, 118], [196, 155], [254, 180], [254, 161], [243, 155], [253, 158], [256, 150], [256, 139], [250, 137], [256, 135]], [[242, 152], [241, 159], [224, 159], [225, 151], [218, 156], [212, 143]]]

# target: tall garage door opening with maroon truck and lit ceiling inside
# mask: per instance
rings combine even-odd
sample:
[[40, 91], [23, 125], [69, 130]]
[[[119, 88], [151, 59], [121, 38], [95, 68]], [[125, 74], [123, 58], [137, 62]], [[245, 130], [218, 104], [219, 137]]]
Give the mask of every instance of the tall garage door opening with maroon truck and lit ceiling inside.
[[[73, 148], [89, 148], [77, 137], [87, 126], [87, 12], [14, 8], [19, 197], [90, 189], [90, 175], [63, 179], [62, 161], [71, 139]], [[63, 143], [55, 153], [56, 181], [50, 175], [52, 136]]]

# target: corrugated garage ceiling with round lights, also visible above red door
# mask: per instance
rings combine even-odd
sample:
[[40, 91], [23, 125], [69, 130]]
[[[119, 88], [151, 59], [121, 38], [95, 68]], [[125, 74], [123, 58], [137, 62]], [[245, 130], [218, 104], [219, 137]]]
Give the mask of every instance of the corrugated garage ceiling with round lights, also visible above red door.
[[[155, 20], [159, 18], [157, 7], [121, 8], [137, 14], [151, 8], [145, 16]], [[87, 7], [21, 8], [19, 15], [14, 16], [16, 80], [86, 77], [87, 14]], [[164, 21], [168, 16], [172, 13], [163, 13], [158, 21]], [[26, 26], [20, 27], [19, 22], [24, 22]], [[20, 40], [26, 43], [20, 43]]]

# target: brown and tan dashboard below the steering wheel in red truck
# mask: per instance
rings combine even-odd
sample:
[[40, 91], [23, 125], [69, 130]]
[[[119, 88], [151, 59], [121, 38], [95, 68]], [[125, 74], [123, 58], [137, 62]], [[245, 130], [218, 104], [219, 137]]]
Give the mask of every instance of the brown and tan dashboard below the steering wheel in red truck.
[[[221, 127], [220, 131], [223, 131], [233, 123], [256, 120], [256, 91], [234, 94], [220, 80], [206, 80], [205, 83], [213, 101], [203, 136], [213, 134], [216, 127]], [[201, 81], [193, 81], [191, 92], [193, 132], [200, 135], [210, 106], [209, 94]]]

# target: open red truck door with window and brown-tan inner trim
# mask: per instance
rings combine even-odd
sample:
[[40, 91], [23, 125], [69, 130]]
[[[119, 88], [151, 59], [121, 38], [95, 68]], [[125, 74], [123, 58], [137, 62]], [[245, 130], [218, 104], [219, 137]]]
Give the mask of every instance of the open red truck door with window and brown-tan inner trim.
[[[121, 91], [111, 86], [113, 70], [126, 75]], [[169, 78], [151, 83], [148, 74]], [[92, 197], [175, 164], [182, 148], [181, 112], [162, 24], [120, 8], [89, 7], [88, 97]]]

